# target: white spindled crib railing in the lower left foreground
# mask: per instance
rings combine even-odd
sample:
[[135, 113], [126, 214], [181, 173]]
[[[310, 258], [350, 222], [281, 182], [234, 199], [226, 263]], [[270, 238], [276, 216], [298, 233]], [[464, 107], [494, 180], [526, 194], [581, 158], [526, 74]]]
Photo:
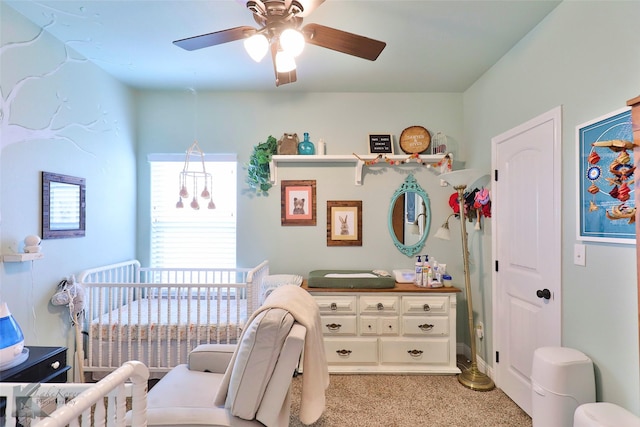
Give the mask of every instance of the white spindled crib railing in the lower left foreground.
[[124, 427], [147, 425], [149, 370], [129, 361], [97, 383], [3, 383], [7, 427]]

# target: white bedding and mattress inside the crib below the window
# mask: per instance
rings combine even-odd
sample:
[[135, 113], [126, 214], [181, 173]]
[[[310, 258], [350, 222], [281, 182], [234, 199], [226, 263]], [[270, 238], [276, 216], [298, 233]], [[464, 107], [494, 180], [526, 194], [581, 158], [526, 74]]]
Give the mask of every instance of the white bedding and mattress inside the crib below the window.
[[[90, 335], [101, 341], [235, 337], [247, 320], [246, 299], [142, 298], [94, 318]], [[240, 325], [238, 325], [240, 323]]]

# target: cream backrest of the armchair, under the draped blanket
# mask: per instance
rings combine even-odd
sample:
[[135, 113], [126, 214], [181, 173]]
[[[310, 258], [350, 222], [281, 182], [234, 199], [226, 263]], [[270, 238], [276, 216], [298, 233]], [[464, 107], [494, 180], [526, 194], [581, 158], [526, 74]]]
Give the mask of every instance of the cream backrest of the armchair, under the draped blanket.
[[293, 322], [288, 311], [271, 308], [258, 313], [249, 324], [231, 372], [225, 402], [231, 414], [245, 420], [255, 418]]

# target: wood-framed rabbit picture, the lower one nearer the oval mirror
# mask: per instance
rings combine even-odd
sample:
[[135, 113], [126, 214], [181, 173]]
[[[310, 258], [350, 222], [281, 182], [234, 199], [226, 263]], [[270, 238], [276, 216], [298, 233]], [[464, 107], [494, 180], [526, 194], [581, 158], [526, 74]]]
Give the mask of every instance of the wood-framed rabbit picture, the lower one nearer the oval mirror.
[[362, 246], [362, 200], [327, 200], [327, 246]]

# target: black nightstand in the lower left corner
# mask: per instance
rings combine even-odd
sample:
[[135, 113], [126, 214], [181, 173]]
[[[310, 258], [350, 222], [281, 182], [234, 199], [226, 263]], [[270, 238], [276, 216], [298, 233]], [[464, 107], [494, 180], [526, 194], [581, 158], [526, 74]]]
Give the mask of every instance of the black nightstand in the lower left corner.
[[66, 383], [66, 347], [27, 347], [29, 357], [13, 368], [0, 371], [0, 382], [12, 383]]

